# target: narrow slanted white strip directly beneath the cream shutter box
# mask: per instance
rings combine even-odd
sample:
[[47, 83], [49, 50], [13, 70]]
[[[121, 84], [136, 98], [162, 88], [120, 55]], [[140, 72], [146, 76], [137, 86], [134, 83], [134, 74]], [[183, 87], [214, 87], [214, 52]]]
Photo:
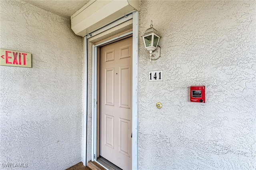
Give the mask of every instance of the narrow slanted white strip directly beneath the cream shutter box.
[[125, 15], [122, 18], [120, 18], [120, 19], [118, 19], [118, 20], [116, 20], [116, 21], [114, 21], [114, 22], [112, 22], [112, 23], [110, 23], [110, 24], [108, 24], [108, 25], [106, 25], [106, 26], [104, 26], [104, 27], [94, 31], [94, 32], [91, 32], [90, 34], [87, 34], [86, 38], [88, 39], [88, 38], [91, 38], [93, 36], [96, 36], [96, 35], [104, 32], [104, 31], [109, 30], [110, 28], [113, 28], [115, 26], [118, 26], [119, 24], [122, 24], [123, 22], [126, 22], [126, 21], [128, 21], [130, 19], [132, 19], [132, 13], [128, 14], [128, 15]]

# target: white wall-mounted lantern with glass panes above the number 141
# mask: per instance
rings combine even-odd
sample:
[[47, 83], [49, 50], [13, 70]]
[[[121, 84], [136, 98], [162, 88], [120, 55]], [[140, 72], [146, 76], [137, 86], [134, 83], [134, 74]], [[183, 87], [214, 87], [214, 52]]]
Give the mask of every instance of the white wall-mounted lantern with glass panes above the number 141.
[[151, 21], [150, 28], [148, 28], [142, 36], [144, 45], [149, 51], [150, 62], [151, 60], [157, 60], [160, 57], [161, 47], [158, 46], [160, 37], [158, 32], [153, 28]]

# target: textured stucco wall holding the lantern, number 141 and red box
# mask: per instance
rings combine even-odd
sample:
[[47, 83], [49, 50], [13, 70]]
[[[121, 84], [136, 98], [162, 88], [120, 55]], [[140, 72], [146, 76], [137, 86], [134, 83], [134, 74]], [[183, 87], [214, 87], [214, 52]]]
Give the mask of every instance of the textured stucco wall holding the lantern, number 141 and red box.
[[[255, 1], [140, 2], [140, 36], [150, 20], [162, 36], [162, 56], [151, 63], [140, 38], [140, 169], [256, 168], [255, 8]], [[153, 70], [163, 70], [162, 82], [148, 82]], [[206, 86], [205, 104], [189, 101], [191, 85]]]

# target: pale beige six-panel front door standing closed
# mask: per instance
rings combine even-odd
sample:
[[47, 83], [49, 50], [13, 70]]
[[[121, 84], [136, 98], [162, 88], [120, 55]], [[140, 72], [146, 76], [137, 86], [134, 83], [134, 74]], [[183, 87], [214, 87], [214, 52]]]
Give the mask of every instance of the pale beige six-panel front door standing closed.
[[132, 169], [132, 37], [100, 48], [100, 156]]

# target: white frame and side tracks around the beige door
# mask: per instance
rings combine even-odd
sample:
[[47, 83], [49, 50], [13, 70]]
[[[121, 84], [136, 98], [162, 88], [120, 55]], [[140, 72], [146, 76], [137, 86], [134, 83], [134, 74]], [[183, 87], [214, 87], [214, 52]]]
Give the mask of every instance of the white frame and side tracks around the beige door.
[[[139, 45], [139, 16], [138, 12], [132, 13], [132, 32], [127, 32], [120, 36], [114, 37], [110, 40], [105, 42], [98, 43], [96, 45], [92, 45], [92, 161], [97, 162], [97, 71], [98, 71], [98, 47], [100, 45], [113, 42], [120, 38], [124, 38], [128, 35], [132, 34], [132, 169], [138, 170], [138, 45]], [[86, 37], [84, 41], [87, 41]], [[86, 43], [85, 43], [86, 44]], [[84, 46], [87, 50], [87, 46]], [[85, 51], [86, 51], [85, 50]], [[85, 60], [87, 59], [87, 53], [85, 53]], [[84, 65], [87, 68], [86, 65]], [[86, 70], [86, 69], [84, 69]], [[87, 71], [84, 71], [86, 74]], [[87, 92], [87, 87], [85, 86], [85, 92]], [[86, 93], [87, 94], [87, 93]], [[86, 98], [86, 99], [85, 99]], [[87, 100], [87, 96], [84, 95], [84, 101]], [[87, 110], [88, 105], [86, 105], [85, 110]], [[85, 111], [86, 112], [86, 111]], [[88, 121], [87, 114], [84, 115], [86, 117], [86, 121]], [[85, 124], [84, 120], [84, 124]], [[84, 125], [86, 127], [88, 124]], [[85, 130], [88, 128], [84, 128]], [[86, 135], [84, 134], [84, 148], [87, 148], [86, 141], [87, 141], [87, 131]], [[83, 150], [85, 151], [85, 150]], [[86, 150], [87, 152], [88, 150]], [[88, 163], [86, 159], [86, 152], [83, 152], [83, 160]], [[84, 164], [85, 164], [84, 162]], [[104, 167], [106, 168], [106, 167]]]

